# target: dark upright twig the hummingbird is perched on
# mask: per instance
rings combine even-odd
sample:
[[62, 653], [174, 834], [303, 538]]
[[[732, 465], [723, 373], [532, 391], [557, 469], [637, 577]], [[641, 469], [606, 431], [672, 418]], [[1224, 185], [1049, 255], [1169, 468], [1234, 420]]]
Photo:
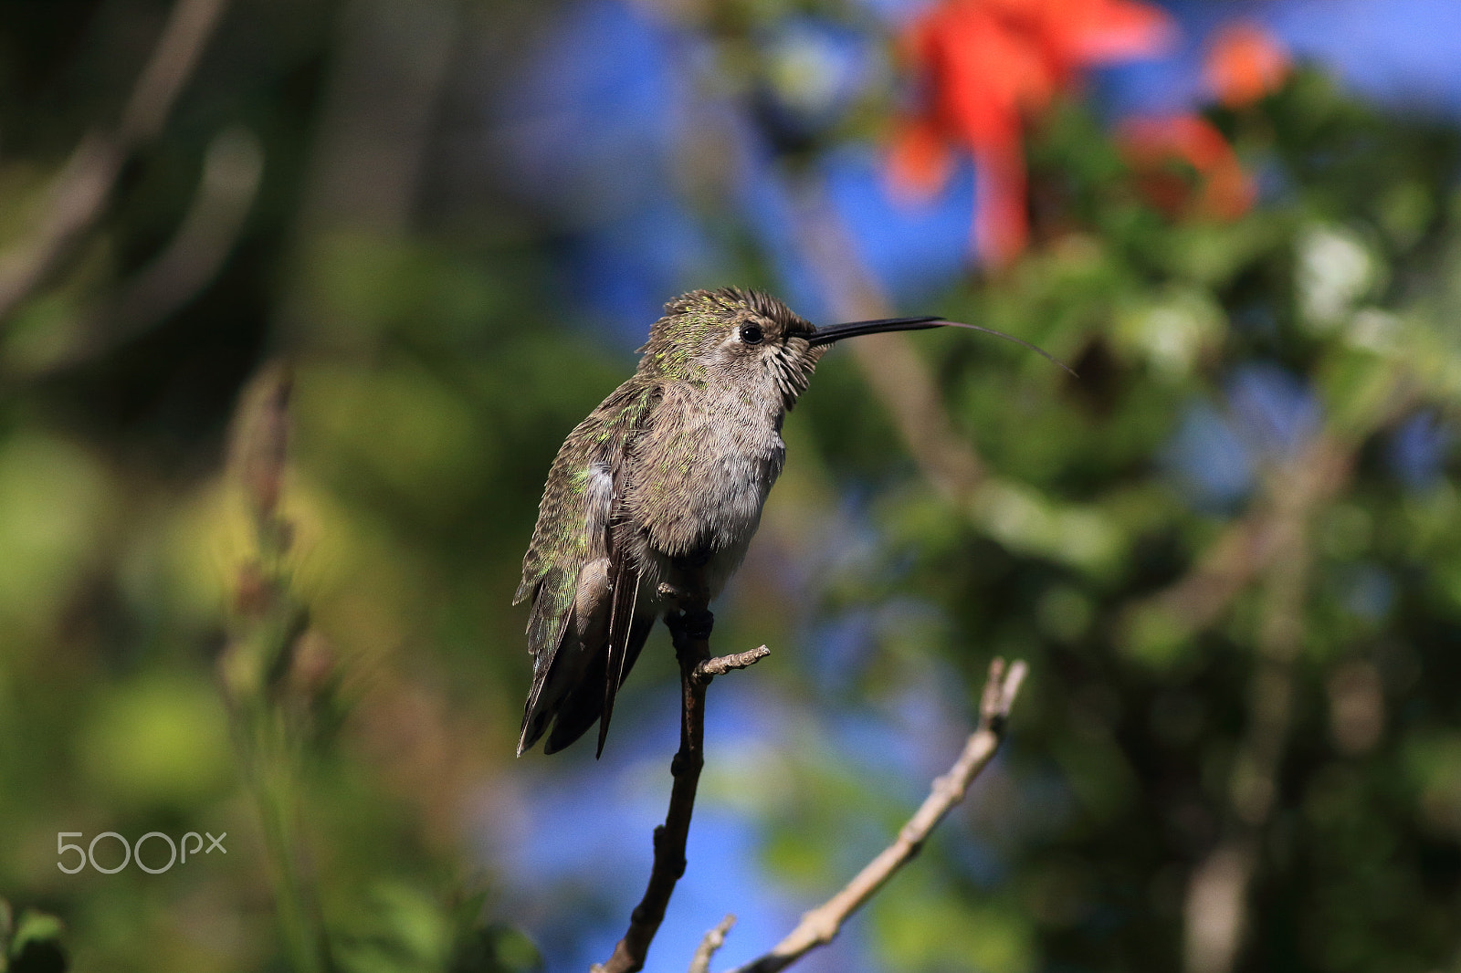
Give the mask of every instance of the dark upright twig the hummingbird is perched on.
[[675, 783], [669, 792], [665, 824], [655, 828], [655, 865], [650, 868], [644, 897], [630, 915], [630, 928], [614, 947], [614, 955], [595, 966], [593, 973], [634, 973], [644, 969], [644, 957], [659, 932], [659, 923], [665, 920], [675, 882], [685, 874], [685, 842], [690, 837], [690, 818], [695, 811], [700, 770], [706, 764], [706, 687], [716, 675], [745, 669], [771, 653], [761, 646], [712, 659], [712, 617], [706, 608], [709, 602], [704, 580], [697, 579], [693, 590], [681, 600], [682, 611], [665, 618], [675, 641], [675, 659], [679, 662], [679, 751], [669, 764]]

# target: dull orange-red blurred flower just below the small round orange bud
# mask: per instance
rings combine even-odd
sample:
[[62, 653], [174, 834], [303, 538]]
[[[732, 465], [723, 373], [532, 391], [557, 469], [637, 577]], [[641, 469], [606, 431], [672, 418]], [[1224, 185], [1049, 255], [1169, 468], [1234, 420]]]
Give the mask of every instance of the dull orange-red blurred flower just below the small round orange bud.
[[[1236, 219], [1254, 205], [1254, 184], [1237, 153], [1201, 115], [1128, 118], [1118, 140], [1143, 194], [1169, 216]], [[1173, 162], [1191, 167], [1197, 178], [1185, 178]]]

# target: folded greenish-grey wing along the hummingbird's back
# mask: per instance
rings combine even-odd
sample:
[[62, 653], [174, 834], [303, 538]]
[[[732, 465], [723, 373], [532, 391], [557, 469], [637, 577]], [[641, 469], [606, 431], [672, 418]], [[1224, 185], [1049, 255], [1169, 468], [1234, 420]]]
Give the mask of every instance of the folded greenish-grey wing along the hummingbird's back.
[[[609, 590], [617, 595], [621, 583], [631, 590], [638, 587], [637, 570], [631, 571], [634, 579], [630, 580], [624, 558], [615, 561], [612, 522], [622, 497], [622, 484], [617, 481], [624, 475], [624, 456], [647, 424], [655, 396], [653, 389], [628, 383], [621, 386], [579, 424], [554, 460], [538, 526], [523, 558], [523, 580], [513, 599], [514, 605], [526, 598], [533, 600], [527, 619], [533, 684], [523, 709], [519, 754], [532, 747], [549, 720], [558, 716], [565, 697], [579, 695], [573, 691], [593, 668], [590, 663], [614, 644], [614, 625], [609, 624], [606, 646], [580, 644], [574, 637], [574, 657], [560, 657], [574, 628], [584, 634], [602, 631], [602, 622], [577, 617], [596, 615], [602, 605], [612, 619], [606, 598]], [[581, 641], [598, 643], [599, 638], [602, 636]], [[619, 636], [618, 644], [627, 644], [627, 633]], [[622, 649], [618, 653], [611, 650], [611, 659], [622, 669]], [[612, 709], [612, 695], [608, 703]]]

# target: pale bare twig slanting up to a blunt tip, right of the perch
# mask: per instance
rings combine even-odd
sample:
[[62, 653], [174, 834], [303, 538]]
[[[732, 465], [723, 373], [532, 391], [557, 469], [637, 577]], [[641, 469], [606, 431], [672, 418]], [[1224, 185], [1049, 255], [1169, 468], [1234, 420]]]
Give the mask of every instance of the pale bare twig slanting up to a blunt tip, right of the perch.
[[1008, 671], [1004, 659], [995, 659], [989, 663], [989, 681], [985, 682], [979, 706], [979, 728], [964, 744], [964, 751], [948, 773], [934, 782], [928, 798], [899, 831], [897, 840], [868, 862], [840, 893], [802, 916], [801, 923], [792, 929], [790, 935], [777, 942], [776, 948], [747, 966], [738, 967], [735, 973], [776, 973], [817, 947], [827, 945], [842, 931], [847, 917], [919, 853], [928, 836], [954, 805], [964, 799], [969, 785], [999, 749], [1010, 707], [1014, 706], [1024, 676], [1024, 662], [1015, 662]]

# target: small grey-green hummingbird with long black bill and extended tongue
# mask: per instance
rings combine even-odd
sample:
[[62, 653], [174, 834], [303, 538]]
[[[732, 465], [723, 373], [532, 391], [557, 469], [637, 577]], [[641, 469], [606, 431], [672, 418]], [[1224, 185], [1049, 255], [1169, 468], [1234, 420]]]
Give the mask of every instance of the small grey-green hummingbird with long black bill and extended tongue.
[[817, 327], [761, 291], [665, 305], [634, 375], [568, 434], [548, 473], [513, 598], [532, 599], [519, 757], [545, 732], [543, 752], [557, 752], [595, 722], [603, 754], [614, 698], [674, 593], [714, 598], [741, 565], [786, 460], [782, 421], [833, 343], [944, 326], [1050, 358], [938, 316]]

